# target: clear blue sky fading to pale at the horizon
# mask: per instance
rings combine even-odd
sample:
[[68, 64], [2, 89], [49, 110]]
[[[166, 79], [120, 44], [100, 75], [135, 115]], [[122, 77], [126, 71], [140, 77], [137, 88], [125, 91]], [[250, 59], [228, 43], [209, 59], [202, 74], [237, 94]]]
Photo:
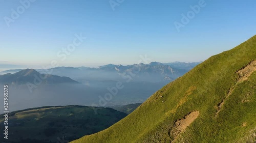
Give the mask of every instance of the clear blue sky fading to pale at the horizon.
[[[255, 0], [124, 0], [114, 10], [109, 0], [37, 0], [26, 3], [24, 11], [21, 2], [0, 1], [0, 69], [10, 68], [5, 64], [40, 68], [52, 61], [74, 67], [128, 65], [145, 54], [157, 62], [198, 62], [256, 34]], [[181, 14], [196, 5], [200, 11], [177, 31], [175, 21], [182, 24]], [[15, 19], [12, 10], [20, 13]], [[63, 60], [57, 53], [75, 34], [87, 38]]]

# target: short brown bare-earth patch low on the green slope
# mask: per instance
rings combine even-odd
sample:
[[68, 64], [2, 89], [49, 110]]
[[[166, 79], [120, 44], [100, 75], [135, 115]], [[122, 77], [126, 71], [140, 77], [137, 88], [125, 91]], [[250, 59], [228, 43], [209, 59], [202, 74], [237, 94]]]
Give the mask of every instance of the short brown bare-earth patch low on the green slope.
[[174, 129], [172, 130], [172, 135], [174, 135], [175, 142], [178, 136], [184, 132], [191, 123], [193, 123], [199, 116], [199, 111], [190, 112], [189, 115], [185, 116], [184, 119], [181, 119], [175, 123]]

